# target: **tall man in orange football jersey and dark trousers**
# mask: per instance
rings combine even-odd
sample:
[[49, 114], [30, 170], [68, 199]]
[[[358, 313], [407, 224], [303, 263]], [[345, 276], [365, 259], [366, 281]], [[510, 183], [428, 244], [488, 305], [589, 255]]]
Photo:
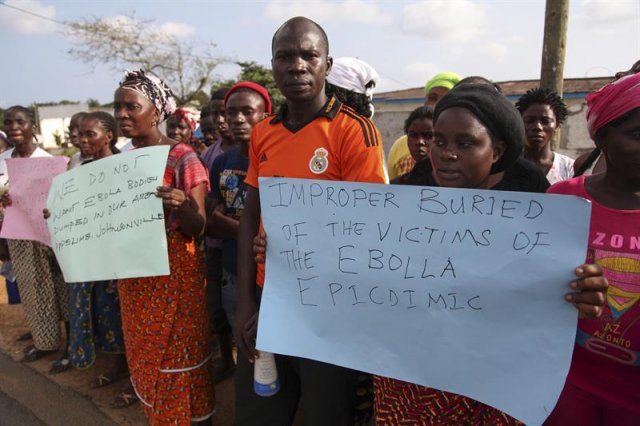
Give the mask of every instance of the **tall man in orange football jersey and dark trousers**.
[[253, 393], [258, 307], [264, 264], [256, 266], [253, 237], [260, 227], [258, 177], [384, 183], [382, 140], [373, 123], [325, 95], [331, 71], [329, 42], [315, 22], [292, 18], [274, 34], [273, 76], [286, 98], [283, 108], [258, 123], [251, 134], [248, 192], [238, 235], [238, 304], [235, 336], [236, 423], [240, 426], [291, 424], [299, 399], [307, 425], [353, 423], [355, 372], [304, 358], [276, 355], [281, 389]]

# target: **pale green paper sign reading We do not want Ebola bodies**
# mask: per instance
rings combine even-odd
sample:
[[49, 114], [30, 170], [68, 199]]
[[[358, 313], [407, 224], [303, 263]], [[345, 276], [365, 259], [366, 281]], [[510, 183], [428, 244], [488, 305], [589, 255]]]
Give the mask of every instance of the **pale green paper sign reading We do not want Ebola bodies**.
[[67, 282], [169, 274], [162, 201], [168, 146], [136, 149], [56, 177], [47, 206]]

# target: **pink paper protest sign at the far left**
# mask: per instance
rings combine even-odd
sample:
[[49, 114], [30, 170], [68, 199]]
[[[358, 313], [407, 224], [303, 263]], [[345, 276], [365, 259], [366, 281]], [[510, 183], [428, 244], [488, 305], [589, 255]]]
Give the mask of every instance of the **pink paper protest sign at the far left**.
[[7, 158], [11, 205], [5, 210], [0, 237], [34, 240], [48, 246], [51, 237], [42, 209], [47, 206], [51, 181], [67, 170], [67, 157]]

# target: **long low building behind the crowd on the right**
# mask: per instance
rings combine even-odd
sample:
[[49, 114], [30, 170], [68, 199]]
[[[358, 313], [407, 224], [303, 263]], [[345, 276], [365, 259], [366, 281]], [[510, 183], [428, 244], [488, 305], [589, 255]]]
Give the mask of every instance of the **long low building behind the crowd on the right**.
[[[590, 151], [593, 142], [587, 132], [585, 96], [613, 80], [613, 77], [567, 78], [564, 80], [563, 98], [569, 108], [569, 117], [562, 126], [558, 151], [576, 158]], [[537, 87], [539, 80], [503, 81], [497, 83], [502, 93], [512, 102]], [[384, 141], [385, 153], [393, 142], [402, 136], [404, 120], [409, 113], [424, 103], [424, 87], [396, 90], [376, 94], [373, 104], [376, 113], [373, 121], [378, 126]]]

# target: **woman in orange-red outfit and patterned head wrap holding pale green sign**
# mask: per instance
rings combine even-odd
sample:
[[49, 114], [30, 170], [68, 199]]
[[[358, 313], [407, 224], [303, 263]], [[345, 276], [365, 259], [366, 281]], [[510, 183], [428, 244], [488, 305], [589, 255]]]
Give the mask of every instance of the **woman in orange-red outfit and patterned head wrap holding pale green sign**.
[[158, 129], [176, 108], [163, 81], [127, 72], [114, 97], [118, 127], [136, 149], [171, 147], [156, 193], [165, 208], [170, 275], [118, 284], [131, 381], [151, 424], [209, 422], [215, 398], [204, 264], [195, 245], [204, 230], [208, 173], [190, 146]]

